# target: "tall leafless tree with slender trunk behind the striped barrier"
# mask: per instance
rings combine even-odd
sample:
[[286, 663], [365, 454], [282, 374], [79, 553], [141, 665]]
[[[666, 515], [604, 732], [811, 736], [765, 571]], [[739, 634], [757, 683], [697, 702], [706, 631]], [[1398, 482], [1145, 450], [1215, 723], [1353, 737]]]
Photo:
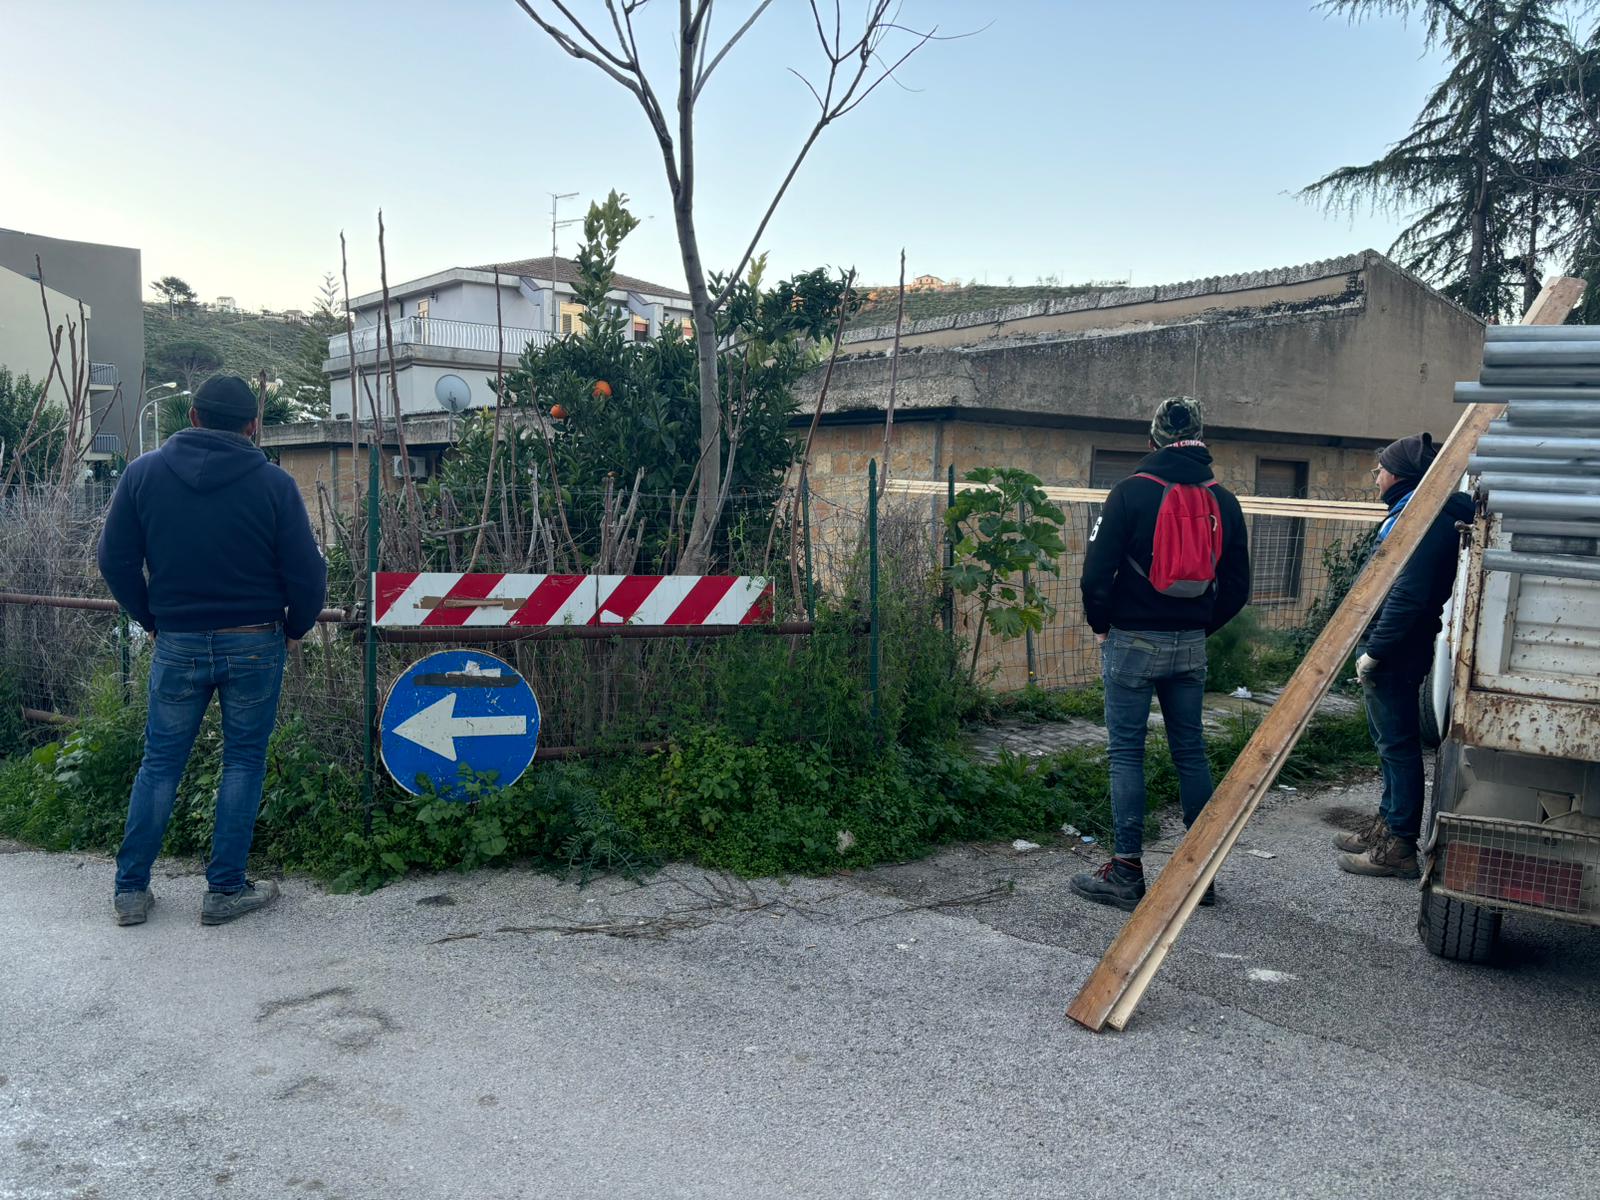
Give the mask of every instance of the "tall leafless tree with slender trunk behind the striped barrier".
[[[576, 59], [592, 64], [613, 82], [632, 93], [650, 122], [661, 147], [672, 194], [672, 216], [683, 256], [683, 275], [690, 288], [694, 314], [694, 352], [699, 362], [701, 430], [699, 466], [696, 470], [694, 515], [690, 522], [685, 552], [678, 570], [694, 574], [706, 568], [712, 541], [728, 496], [733, 462], [722, 461], [723, 411], [717, 378], [717, 310], [726, 302], [746, 266], [755, 254], [779, 202], [794, 182], [822, 130], [853, 112], [885, 80], [928, 42], [936, 30], [917, 32], [898, 22], [899, 0], [867, 0], [866, 11], [850, 32], [845, 29], [842, 0], [808, 0], [821, 46], [821, 66], [806, 77], [790, 69], [816, 101], [816, 117], [800, 142], [794, 162], [778, 184], [771, 202], [755, 224], [755, 234], [715, 286], [701, 258], [699, 232], [694, 224], [694, 115], [706, 85], [728, 53], [750, 32], [750, 27], [773, 6], [773, 0], [757, 0], [754, 11], [718, 46], [710, 35], [715, 0], [678, 0], [677, 21], [677, 98], [661, 93], [645, 69], [634, 19], [650, 0], [603, 0], [605, 19], [586, 22], [573, 13], [571, 0], [517, 0], [517, 5], [542, 29], [557, 46]], [[824, 11], [832, 10], [832, 11]], [[898, 40], [898, 46], [890, 46]], [[670, 107], [669, 107], [670, 104]], [[730, 459], [733, 456], [730, 454]]]

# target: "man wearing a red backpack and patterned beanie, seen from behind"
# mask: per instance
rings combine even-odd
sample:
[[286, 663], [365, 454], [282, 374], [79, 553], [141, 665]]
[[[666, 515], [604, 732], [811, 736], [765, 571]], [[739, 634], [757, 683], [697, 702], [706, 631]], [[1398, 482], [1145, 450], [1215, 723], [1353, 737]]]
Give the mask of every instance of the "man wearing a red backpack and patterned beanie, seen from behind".
[[[1106, 498], [1083, 560], [1083, 613], [1101, 642], [1115, 856], [1072, 890], [1131, 912], [1144, 898], [1144, 741], [1162, 706], [1184, 826], [1211, 798], [1200, 725], [1205, 640], [1250, 600], [1238, 501], [1211, 477], [1200, 402], [1171, 397], [1150, 422], [1150, 454]], [[1214, 904], [1206, 888], [1202, 904]]]

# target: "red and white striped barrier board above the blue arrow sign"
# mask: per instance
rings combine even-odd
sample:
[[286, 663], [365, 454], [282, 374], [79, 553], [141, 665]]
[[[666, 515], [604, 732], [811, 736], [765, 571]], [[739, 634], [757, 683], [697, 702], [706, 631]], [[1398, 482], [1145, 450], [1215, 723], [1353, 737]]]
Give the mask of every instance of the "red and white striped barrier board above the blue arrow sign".
[[770, 621], [773, 582], [755, 574], [373, 576], [371, 621], [389, 627], [754, 626]]

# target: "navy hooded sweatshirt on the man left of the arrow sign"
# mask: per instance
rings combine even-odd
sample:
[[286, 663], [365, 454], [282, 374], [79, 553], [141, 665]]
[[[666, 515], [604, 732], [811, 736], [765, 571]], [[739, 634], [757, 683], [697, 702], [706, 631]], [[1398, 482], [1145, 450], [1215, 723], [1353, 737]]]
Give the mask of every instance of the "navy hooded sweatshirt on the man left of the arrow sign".
[[[152, 634], [317, 622], [328, 565], [288, 472], [240, 434], [184, 429], [128, 464], [101, 533], [117, 603]], [[149, 579], [146, 579], [149, 571]]]

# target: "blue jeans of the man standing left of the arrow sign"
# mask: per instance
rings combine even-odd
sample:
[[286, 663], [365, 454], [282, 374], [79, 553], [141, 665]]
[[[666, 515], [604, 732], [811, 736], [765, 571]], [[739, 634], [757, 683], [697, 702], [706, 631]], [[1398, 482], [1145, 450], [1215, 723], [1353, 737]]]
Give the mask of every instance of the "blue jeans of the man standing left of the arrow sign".
[[213, 693], [222, 706], [222, 782], [216, 789], [216, 830], [205, 877], [211, 891], [245, 886], [245, 861], [267, 774], [267, 741], [283, 685], [283, 651], [282, 629], [155, 638], [144, 762], [133, 781], [128, 824], [117, 851], [117, 891], [150, 886], [150, 866], [162, 853], [178, 784]]

